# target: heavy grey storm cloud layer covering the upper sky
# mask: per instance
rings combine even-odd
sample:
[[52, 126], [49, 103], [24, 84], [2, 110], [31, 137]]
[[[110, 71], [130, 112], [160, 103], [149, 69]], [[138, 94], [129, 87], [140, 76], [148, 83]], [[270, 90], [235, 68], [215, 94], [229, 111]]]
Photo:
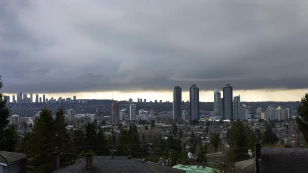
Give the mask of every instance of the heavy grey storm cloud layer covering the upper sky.
[[307, 88], [307, 5], [4, 0], [3, 92]]

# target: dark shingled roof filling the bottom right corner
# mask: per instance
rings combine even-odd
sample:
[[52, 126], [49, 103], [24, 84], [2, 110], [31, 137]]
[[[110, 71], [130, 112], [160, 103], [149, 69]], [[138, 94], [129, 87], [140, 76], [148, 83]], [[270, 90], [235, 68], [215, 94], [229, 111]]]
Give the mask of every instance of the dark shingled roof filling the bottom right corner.
[[308, 149], [261, 148], [260, 172], [308, 172]]

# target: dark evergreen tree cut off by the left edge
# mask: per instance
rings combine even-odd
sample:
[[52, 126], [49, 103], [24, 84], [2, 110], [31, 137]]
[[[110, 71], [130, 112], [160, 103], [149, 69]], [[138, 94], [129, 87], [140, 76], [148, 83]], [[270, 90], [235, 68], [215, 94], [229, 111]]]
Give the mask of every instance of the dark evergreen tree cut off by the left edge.
[[[3, 82], [0, 76], [0, 90]], [[0, 93], [0, 150], [14, 151], [17, 143], [17, 134], [15, 128], [9, 125], [10, 110], [7, 106], [7, 101], [3, 98], [3, 93]]]

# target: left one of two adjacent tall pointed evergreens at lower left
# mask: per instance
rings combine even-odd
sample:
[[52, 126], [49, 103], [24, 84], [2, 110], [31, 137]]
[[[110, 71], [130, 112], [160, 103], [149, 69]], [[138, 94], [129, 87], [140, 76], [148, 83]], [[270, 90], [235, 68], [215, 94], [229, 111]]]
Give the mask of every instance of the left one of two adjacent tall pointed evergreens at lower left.
[[55, 122], [48, 109], [41, 110], [41, 117], [35, 120], [31, 138], [26, 143], [26, 154], [31, 157], [29, 164], [35, 171], [50, 172], [50, 163], [55, 151]]

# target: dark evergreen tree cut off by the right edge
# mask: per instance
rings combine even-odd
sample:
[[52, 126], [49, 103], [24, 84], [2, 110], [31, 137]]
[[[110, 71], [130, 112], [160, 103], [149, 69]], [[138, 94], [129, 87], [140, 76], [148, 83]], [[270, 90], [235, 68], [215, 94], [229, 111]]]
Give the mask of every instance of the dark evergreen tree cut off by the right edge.
[[301, 104], [297, 108], [297, 113], [299, 116], [296, 117], [296, 123], [303, 134], [305, 142], [308, 144], [308, 93], [301, 98]]

